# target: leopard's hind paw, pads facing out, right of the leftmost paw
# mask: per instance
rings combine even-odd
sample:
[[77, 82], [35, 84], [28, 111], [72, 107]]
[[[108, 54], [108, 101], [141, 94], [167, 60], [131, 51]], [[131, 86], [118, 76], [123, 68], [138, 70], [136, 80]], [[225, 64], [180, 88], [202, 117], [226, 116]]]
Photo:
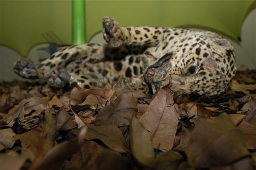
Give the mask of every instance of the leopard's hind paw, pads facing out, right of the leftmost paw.
[[60, 66], [46, 73], [46, 81], [52, 87], [62, 88], [69, 80], [70, 74], [67, 72], [66, 68]]

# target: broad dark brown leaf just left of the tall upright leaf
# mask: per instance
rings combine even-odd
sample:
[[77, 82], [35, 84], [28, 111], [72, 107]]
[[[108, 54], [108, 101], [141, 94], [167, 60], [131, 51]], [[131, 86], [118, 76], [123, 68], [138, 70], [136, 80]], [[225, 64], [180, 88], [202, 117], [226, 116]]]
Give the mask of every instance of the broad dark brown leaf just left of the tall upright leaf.
[[103, 107], [97, 114], [93, 124], [115, 124], [116, 126], [129, 125], [129, 119], [137, 113], [137, 98], [131, 94], [122, 94], [113, 104]]

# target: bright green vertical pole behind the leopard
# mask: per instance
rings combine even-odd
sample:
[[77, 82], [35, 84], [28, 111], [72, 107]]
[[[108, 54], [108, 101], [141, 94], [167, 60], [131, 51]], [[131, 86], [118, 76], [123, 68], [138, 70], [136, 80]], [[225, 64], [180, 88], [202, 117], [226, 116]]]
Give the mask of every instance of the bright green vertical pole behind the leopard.
[[72, 0], [72, 44], [84, 43], [84, 0]]

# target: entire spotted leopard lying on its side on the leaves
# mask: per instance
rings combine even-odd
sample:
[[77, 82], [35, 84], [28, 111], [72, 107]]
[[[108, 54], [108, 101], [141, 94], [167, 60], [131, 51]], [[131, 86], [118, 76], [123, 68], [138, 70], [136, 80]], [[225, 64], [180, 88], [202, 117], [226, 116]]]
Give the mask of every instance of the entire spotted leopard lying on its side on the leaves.
[[108, 44], [60, 48], [37, 66], [22, 59], [14, 71], [23, 78], [44, 79], [50, 86], [104, 83], [148, 92], [169, 85], [179, 94], [224, 92], [236, 71], [233, 47], [213, 32], [170, 27], [120, 27], [103, 18]]

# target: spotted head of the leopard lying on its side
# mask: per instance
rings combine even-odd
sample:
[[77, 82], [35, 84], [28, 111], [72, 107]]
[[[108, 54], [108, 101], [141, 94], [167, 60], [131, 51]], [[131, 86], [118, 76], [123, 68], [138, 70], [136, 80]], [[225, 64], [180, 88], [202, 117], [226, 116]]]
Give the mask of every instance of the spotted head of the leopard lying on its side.
[[149, 66], [145, 79], [153, 91], [170, 85], [178, 94], [219, 95], [236, 71], [232, 50], [230, 42], [212, 32], [188, 36]]

